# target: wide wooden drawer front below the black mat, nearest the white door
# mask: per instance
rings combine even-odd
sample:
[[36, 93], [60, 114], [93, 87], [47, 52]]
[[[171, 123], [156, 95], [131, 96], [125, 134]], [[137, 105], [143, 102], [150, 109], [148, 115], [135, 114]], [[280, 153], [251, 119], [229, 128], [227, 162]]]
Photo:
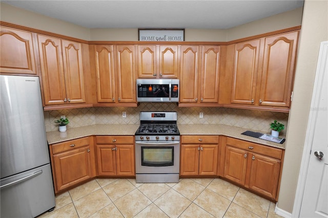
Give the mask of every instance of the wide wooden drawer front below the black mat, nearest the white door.
[[229, 137], [227, 137], [227, 145], [238, 147], [244, 150], [248, 150], [272, 158], [277, 158], [277, 159], [282, 158], [282, 149], [279, 148], [260, 145], [253, 142], [247, 142], [247, 141], [229, 138]]

